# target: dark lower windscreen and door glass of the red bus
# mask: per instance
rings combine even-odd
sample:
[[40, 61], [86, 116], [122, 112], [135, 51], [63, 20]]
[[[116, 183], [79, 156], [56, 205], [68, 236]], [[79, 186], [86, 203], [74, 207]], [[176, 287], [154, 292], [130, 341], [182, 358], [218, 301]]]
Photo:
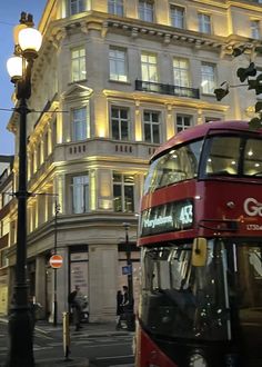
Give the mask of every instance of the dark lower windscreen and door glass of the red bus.
[[153, 335], [231, 340], [235, 323], [261, 325], [261, 244], [210, 239], [203, 267], [192, 266], [192, 244], [144, 247], [142, 257], [140, 317]]

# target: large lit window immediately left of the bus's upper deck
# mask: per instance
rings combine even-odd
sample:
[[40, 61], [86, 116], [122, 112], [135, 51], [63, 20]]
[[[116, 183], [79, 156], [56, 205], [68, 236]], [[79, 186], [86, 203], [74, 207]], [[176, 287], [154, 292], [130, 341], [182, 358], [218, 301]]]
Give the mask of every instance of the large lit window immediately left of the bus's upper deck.
[[113, 172], [113, 209], [114, 211], [134, 211], [134, 177]]

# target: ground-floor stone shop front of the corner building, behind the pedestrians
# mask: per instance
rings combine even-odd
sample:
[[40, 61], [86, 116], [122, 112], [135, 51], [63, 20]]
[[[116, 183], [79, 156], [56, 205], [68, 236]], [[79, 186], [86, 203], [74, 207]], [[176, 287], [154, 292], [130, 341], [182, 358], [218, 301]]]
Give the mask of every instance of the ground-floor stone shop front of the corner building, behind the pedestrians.
[[[50, 323], [54, 317], [57, 298], [57, 320], [62, 321], [62, 313], [68, 311], [68, 295], [80, 286], [88, 298], [90, 321], [108, 321], [115, 318], [117, 291], [128, 286], [125, 272], [130, 251], [132, 262], [133, 295], [138, 305], [140, 280], [140, 251], [130, 244], [74, 244], [58, 246], [62, 266], [53, 269], [50, 258], [53, 249], [37, 254], [28, 260], [28, 284], [30, 296], [42, 308], [40, 318]], [[10, 281], [14, 280], [14, 266], [10, 267]], [[11, 287], [9, 287], [11, 292]], [[56, 297], [57, 296], [57, 297]], [[9, 295], [9, 298], [11, 295]]]

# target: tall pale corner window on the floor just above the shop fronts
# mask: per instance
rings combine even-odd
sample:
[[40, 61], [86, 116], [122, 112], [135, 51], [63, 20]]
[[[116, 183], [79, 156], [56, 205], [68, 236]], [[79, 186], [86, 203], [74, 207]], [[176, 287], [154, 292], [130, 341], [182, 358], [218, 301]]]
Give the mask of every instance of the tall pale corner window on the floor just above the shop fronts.
[[73, 214], [89, 211], [89, 176], [72, 177], [72, 209]]

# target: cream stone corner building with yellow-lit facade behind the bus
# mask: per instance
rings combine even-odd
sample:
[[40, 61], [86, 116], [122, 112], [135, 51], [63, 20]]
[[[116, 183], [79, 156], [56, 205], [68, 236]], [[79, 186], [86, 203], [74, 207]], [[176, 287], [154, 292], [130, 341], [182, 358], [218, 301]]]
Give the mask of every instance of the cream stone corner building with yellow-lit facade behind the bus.
[[[28, 279], [50, 320], [54, 240], [59, 319], [75, 284], [91, 321], [112, 319], [127, 251], [138, 298], [137, 214], [150, 156], [191, 126], [252, 116], [255, 95], [233, 87], [255, 57], [261, 14], [260, 1], [242, 0], [47, 1], [28, 115]], [[233, 58], [235, 47], [245, 53]], [[232, 88], [218, 102], [223, 81]], [[14, 112], [16, 147], [18, 123]], [[17, 187], [17, 159], [13, 172]], [[9, 218], [11, 289], [16, 210]]]

